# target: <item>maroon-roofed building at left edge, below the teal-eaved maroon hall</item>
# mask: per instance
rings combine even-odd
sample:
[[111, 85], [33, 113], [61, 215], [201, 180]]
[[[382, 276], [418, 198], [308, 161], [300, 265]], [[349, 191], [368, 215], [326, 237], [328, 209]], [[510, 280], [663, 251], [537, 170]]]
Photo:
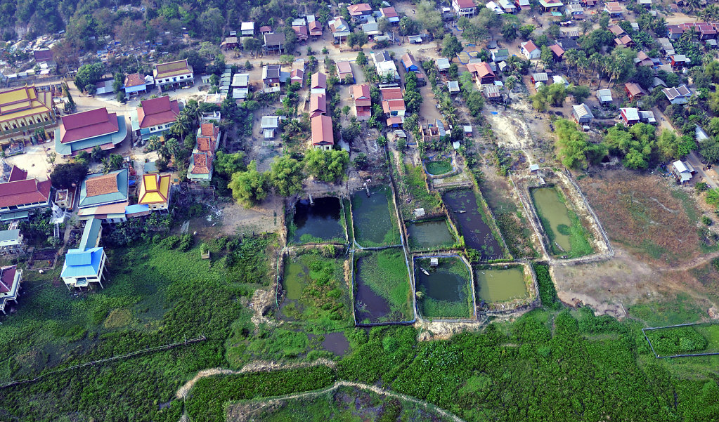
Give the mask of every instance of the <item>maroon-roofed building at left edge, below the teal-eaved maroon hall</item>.
[[13, 166], [8, 181], [0, 183], [0, 221], [26, 219], [50, 208], [50, 180], [27, 178], [27, 171]]

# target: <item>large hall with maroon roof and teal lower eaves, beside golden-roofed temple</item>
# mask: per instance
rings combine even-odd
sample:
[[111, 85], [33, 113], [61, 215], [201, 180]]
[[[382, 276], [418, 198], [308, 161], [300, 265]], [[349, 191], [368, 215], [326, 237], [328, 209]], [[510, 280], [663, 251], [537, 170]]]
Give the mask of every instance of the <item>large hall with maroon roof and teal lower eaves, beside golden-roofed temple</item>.
[[94, 147], [112, 150], [127, 139], [127, 123], [122, 115], [109, 113], [105, 107], [60, 117], [55, 129], [55, 151], [63, 157], [74, 157]]

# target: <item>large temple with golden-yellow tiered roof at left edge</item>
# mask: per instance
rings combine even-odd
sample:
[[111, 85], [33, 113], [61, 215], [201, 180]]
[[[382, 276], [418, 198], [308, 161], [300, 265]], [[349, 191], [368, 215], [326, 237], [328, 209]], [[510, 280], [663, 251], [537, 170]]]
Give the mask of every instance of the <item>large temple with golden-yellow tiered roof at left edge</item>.
[[0, 92], [0, 137], [32, 134], [37, 128], [55, 126], [52, 93], [23, 86]]

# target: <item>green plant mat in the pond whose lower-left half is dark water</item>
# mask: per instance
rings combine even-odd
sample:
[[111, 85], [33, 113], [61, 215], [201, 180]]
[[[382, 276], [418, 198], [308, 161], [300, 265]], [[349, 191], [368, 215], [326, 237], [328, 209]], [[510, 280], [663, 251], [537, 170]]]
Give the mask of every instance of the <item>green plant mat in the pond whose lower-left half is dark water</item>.
[[355, 268], [359, 273], [357, 283], [361, 281], [362, 284], [367, 285], [384, 298], [390, 307], [388, 316], [379, 322], [411, 321], [412, 293], [402, 249], [388, 248], [365, 253], [355, 255], [357, 257]]

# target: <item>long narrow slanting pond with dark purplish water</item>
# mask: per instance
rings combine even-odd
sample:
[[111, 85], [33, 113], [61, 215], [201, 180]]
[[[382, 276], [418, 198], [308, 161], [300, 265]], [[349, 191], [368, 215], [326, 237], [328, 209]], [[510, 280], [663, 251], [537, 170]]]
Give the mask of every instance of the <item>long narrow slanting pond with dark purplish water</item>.
[[485, 216], [480, 212], [474, 191], [470, 189], [448, 191], [442, 195], [442, 201], [457, 222], [457, 230], [464, 237], [464, 244], [468, 248], [479, 252], [482, 260], [498, 260], [504, 257], [500, 242], [495, 238]]

